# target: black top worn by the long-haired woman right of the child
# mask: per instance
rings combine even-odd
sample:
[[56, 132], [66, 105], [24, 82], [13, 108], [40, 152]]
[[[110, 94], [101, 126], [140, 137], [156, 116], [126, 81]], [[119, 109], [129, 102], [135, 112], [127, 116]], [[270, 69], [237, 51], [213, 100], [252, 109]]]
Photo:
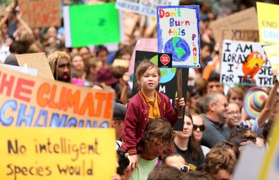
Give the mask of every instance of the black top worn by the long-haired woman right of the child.
[[204, 163], [204, 153], [202, 153], [202, 148], [201, 146], [199, 146], [199, 155], [200, 158], [197, 160], [192, 160], [192, 155], [191, 155], [191, 151], [188, 148], [187, 150], [181, 150], [180, 148], [178, 148], [178, 146], [176, 146], [175, 144], [175, 150], [177, 153], [179, 153], [180, 155], [182, 155], [182, 157], [186, 160], [186, 162], [190, 165], [190, 169], [191, 170], [197, 170], [200, 169]]

